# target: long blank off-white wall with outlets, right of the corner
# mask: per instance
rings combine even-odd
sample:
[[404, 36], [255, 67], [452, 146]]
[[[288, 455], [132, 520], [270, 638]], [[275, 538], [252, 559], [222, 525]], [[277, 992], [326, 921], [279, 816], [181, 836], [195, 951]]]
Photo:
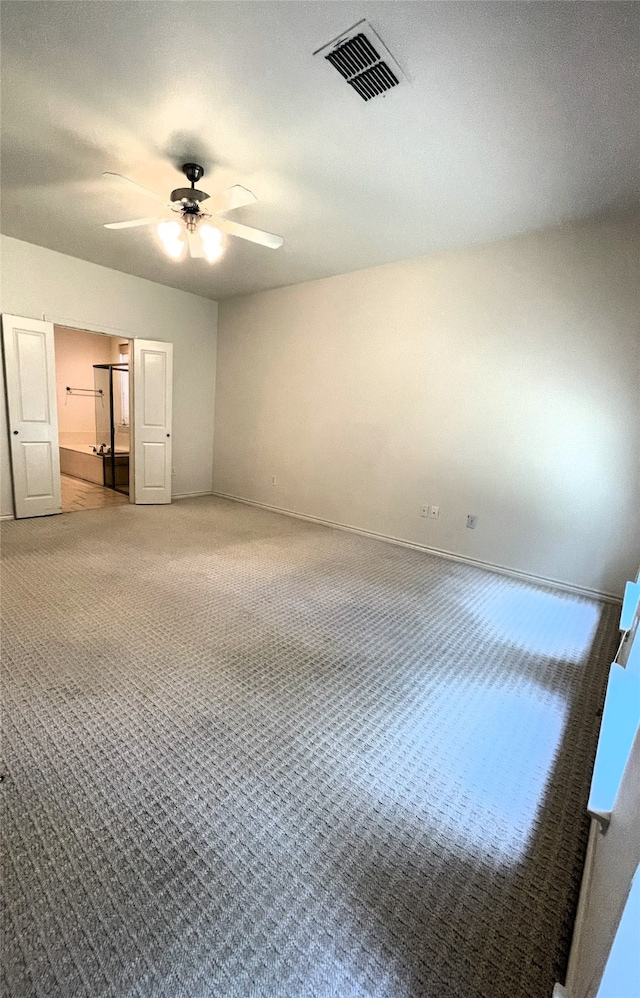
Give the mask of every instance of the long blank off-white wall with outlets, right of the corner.
[[214, 488], [620, 594], [639, 243], [567, 226], [222, 303]]

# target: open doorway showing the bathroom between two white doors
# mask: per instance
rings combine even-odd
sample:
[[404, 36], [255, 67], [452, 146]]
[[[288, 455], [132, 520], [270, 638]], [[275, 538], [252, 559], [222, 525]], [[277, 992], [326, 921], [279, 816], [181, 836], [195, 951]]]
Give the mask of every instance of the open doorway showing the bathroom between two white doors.
[[129, 502], [129, 340], [54, 326], [63, 513]]

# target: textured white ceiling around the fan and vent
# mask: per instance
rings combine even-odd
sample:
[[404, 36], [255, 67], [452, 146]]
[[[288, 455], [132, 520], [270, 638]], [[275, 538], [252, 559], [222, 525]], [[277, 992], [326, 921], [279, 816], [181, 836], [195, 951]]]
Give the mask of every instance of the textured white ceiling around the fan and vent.
[[[635, 202], [640, 4], [4, 0], [2, 231], [222, 299]], [[312, 52], [368, 18], [411, 77], [365, 103]], [[154, 214], [195, 159], [279, 233], [168, 260]]]

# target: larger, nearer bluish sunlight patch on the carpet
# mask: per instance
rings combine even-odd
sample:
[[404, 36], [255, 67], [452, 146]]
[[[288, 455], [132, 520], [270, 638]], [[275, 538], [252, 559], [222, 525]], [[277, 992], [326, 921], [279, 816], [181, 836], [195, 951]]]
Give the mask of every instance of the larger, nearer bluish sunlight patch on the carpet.
[[[437, 826], [452, 851], [518, 862], [539, 820], [565, 722], [564, 698], [537, 683], [452, 680], [386, 733], [388, 751], [410, 764], [399, 771], [377, 761], [369, 795], [375, 806], [409, 810]], [[378, 745], [378, 759], [382, 751]]]

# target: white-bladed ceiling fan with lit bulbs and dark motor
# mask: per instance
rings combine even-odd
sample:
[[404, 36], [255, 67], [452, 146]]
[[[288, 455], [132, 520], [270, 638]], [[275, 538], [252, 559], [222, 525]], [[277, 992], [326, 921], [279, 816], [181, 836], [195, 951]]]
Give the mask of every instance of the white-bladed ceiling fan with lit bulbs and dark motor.
[[[139, 193], [159, 202], [165, 208], [164, 215], [134, 218], [128, 222], [107, 222], [105, 229], [132, 229], [138, 225], [157, 225], [165, 252], [174, 260], [180, 259], [183, 254], [185, 244], [183, 236], [186, 236], [189, 254], [192, 257], [204, 257], [209, 263], [214, 263], [222, 255], [223, 233], [248, 239], [249, 242], [267, 246], [269, 249], [278, 249], [282, 246], [284, 242], [282, 236], [254, 229], [250, 225], [241, 225], [222, 216], [222, 212], [233, 211], [234, 208], [242, 208], [243, 205], [253, 204], [258, 200], [246, 187], [236, 184], [219, 194], [210, 196], [196, 187], [196, 183], [204, 176], [204, 169], [198, 163], [185, 163], [182, 171], [191, 187], [178, 187], [175, 191], [171, 191], [169, 201], [165, 201], [159, 194], [148, 190], [135, 180], [123, 177], [120, 173], [104, 173], [105, 177], [115, 177], [116, 180], [135, 187]], [[203, 201], [209, 202], [206, 209], [201, 207]], [[179, 221], [169, 220], [166, 209], [178, 215]]]

